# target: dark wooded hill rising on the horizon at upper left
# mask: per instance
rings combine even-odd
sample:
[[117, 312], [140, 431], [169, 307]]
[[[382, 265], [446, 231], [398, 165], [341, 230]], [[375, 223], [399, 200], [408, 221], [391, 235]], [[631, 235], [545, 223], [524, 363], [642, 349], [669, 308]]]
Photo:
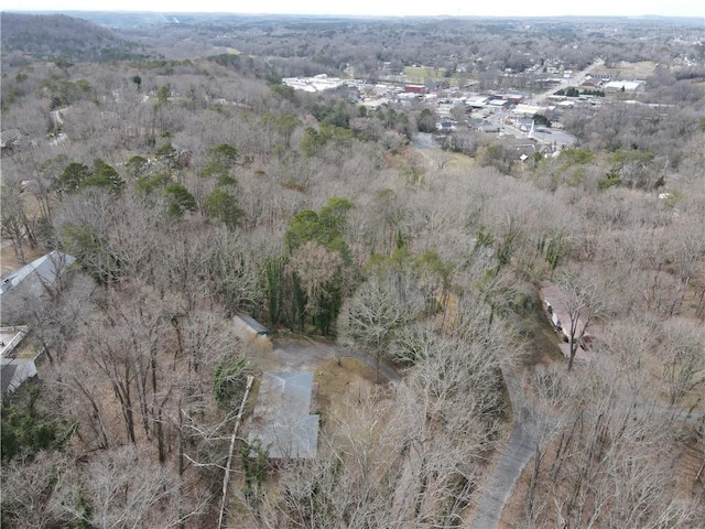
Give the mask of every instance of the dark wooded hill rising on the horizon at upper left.
[[110, 61], [138, 56], [140, 45], [109, 29], [64, 14], [0, 13], [3, 56]]

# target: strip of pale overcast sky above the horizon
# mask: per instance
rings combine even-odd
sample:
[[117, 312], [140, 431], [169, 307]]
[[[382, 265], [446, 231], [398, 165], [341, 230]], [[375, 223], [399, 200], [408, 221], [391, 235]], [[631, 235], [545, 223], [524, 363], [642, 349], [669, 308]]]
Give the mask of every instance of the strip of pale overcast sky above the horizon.
[[704, 0], [0, 0], [2, 11], [154, 11], [352, 15], [698, 17]]

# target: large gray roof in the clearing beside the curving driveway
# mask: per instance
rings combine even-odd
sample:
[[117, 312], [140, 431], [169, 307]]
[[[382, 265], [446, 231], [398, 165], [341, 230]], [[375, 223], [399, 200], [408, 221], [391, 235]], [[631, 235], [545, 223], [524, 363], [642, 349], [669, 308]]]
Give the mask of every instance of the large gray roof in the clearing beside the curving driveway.
[[310, 414], [312, 389], [311, 371], [265, 373], [250, 442], [260, 440], [270, 458], [315, 457], [319, 417]]

